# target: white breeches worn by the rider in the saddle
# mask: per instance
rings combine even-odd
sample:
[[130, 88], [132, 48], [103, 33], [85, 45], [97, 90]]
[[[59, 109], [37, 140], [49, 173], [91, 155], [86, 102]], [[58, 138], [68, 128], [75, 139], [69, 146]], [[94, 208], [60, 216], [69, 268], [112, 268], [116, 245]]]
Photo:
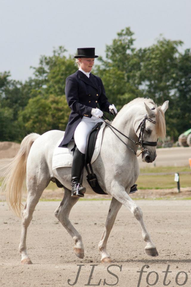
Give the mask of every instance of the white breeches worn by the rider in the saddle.
[[80, 152], [86, 153], [86, 141], [88, 133], [93, 129], [93, 127], [99, 123], [103, 122], [102, 119], [95, 116], [83, 117], [81, 122], [78, 124], [74, 132], [74, 141]]

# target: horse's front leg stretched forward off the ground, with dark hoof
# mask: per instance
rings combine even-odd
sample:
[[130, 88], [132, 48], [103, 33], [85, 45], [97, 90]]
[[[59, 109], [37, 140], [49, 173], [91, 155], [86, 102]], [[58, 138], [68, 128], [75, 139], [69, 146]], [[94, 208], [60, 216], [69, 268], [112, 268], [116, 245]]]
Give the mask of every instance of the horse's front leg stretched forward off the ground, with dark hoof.
[[145, 246], [145, 252], [150, 256], [158, 256], [158, 252], [156, 250], [156, 246], [152, 242], [150, 238], [150, 234], [148, 233], [145, 223], [143, 221], [143, 213], [141, 208], [131, 199], [128, 193], [125, 191], [125, 188], [120, 185], [113, 183], [113, 188], [111, 191], [111, 195], [115, 197], [119, 202], [121, 202], [125, 207], [127, 207], [131, 213], [135, 216], [135, 218], [139, 221], [142, 230], [142, 238], [147, 243]]

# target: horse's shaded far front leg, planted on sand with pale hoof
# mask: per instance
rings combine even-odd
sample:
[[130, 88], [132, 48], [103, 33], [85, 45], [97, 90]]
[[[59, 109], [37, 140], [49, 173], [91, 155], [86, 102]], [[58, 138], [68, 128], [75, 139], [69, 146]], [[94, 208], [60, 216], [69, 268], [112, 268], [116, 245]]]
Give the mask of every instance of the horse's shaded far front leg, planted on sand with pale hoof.
[[117, 213], [118, 213], [119, 209], [121, 208], [121, 206], [122, 206], [122, 204], [113, 197], [111, 200], [110, 207], [109, 207], [109, 212], [108, 212], [108, 216], [106, 219], [105, 228], [104, 228], [101, 240], [98, 244], [98, 250], [100, 251], [100, 254], [101, 254], [101, 262], [102, 263], [110, 263], [111, 262], [111, 258], [106, 251], [106, 244], [107, 244], [111, 229], [114, 225]]

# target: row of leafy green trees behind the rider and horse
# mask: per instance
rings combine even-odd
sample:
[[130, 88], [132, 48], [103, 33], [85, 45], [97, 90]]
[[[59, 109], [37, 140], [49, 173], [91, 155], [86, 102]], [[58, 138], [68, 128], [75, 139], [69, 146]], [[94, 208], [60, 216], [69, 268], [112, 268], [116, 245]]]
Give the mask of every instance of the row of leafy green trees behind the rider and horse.
[[[98, 58], [94, 74], [103, 80], [107, 97], [118, 110], [136, 97], [157, 104], [169, 100], [167, 135], [174, 140], [191, 126], [191, 53], [180, 52], [181, 41], [160, 36], [147, 48], [134, 47], [129, 27], [106, 45], [105, 59]], [[77, 70], [63, 46], [51, 56], [41, 56], [33, 77], [24, 83], [0, 73], [0, 140], [21, 141], [30, 132], [66, 128], [70, 109], [64, 95], [66, 77]]]

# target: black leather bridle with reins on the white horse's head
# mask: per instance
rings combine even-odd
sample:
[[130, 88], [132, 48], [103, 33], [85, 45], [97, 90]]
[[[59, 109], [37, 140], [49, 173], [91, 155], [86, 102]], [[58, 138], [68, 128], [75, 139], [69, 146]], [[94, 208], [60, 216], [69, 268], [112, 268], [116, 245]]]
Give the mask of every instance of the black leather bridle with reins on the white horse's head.
[[106, 123], [106, 125], [112, 130], [112, 132], [117, 136], [117, 138], [119, 138], [119, 136], [113, 131], [113, 129], [115, 129], [117, 132], [119, 132], [121, 135], [123, 135], [125, 138], [128, 138], [130, 141], [132, 141], [134, 144], [140, 146], [141, 152], [139, 154], [137, 154], [130, 146], [128, 146], [128, 144], [126, 144], [121, 138], [119, 138], [119, 140], [125, 144], [125, 146], [128, 147], [128, 149], [130, 149], [137, 157], [142, 153], [142, 152], [146, 152], [147, 149], [144, 148], [144, 146], [157, 146], [157, 141], [143, 141], [143, 135], [144, 135], [144, 129], [145, 129], [145, 122], [146, 120], [150, 121], [151, 123], [156, 124], [156, 121], [151, 120], [150, 117], [145, 117], [142, 122], [139, 124], [138, 128], [136, 129], [136, 133], [138, 131], [138, 129], [140, 128], [140, 132], [139, 132], [139, 138], [138, 141], [134, 141], [132, 138], [129, 138], [128, 136], [124, 135], [122, 132], [120, 132], [118, 129], [116, 129], [114, 126], [111, 126], [107, 121], [105, 121], [103, 118], [102, 120]]

